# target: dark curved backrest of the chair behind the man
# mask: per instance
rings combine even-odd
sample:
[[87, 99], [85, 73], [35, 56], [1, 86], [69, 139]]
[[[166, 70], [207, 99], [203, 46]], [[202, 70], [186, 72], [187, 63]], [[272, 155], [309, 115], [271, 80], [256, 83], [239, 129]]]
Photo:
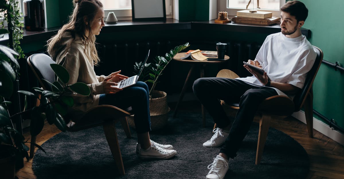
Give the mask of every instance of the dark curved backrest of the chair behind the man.
[[295, 111], [299, 111], [301, 107], [303, 106], [303, 103], [310, 92], [312, 88], [313, 81], [315, 79], [316, 73], [318, 73], [318, 70], [320, 68], [321, 62], [323, 60], [323, 52], [320, 50], [320, 48], [313, 46], [314, 51], [316, 52], [316, 58], [313, 64], [313, 67], [311, 70], [307, 73], [307, 77], [304, 83], [303, 88], [299, 93], [297, 93], [293, 99], [293, 102], [295, 104]]

